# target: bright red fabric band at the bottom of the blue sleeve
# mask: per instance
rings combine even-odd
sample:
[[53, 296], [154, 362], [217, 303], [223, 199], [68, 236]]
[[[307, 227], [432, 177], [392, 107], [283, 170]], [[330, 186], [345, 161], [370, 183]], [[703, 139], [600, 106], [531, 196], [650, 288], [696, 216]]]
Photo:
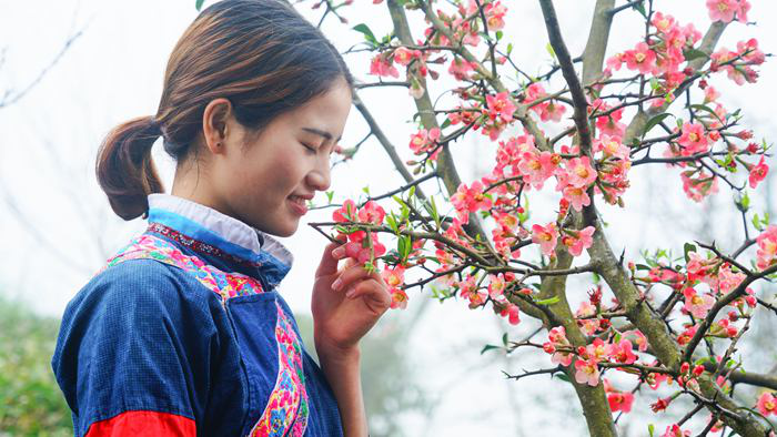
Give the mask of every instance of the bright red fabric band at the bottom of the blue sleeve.
[[124, 411], [110, 419], [93, 423], [85, 437], [120, 436], [196, 436], [194, 420], [169, 413]]

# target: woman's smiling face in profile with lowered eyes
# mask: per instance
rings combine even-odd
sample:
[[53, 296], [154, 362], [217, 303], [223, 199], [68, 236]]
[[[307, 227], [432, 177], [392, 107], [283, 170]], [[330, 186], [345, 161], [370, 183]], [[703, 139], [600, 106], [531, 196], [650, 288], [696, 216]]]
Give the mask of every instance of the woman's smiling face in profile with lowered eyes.
[[[339, 80], [329, 92], [278, 116], [252, 134], [230, 115], [223, 152], [212, 153], [209, 199], [195, 199], [260, 231], [292, 235], [316, 191], [330, 186], [330, 154], [351, 111], [351, 91]], [[208, 129], [203, 129], [208, 136]], [[210, 149], [210, 146], [209, 146]], [[205, 203], [206, 202], [206, 203]]]

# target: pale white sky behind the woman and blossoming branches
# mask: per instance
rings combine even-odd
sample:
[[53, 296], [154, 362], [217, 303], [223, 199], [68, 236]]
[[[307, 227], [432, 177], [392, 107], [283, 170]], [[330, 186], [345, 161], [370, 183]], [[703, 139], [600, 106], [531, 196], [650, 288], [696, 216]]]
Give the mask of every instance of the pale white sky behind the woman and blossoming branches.
[[[325, 27], [325, 33], [343, 51], [360, 41], [360, 34], [350, 27], [362, 22], [363, 17], [370, 17], [369, 24], [379, 38], [390, 29], [384, 6], [373, 6], [366, 0], [356, 3], [354, 11], [345, 13], [349, 26], [330, 20]], [[547, 37], [537, 2], [505, 3], [511, 8], [505, 38], [514, 41], [516, 62], [529, 73], [544, 71], [549, 55], [545, 50]], [[594, 1], [555, 3], [566, 42], [573, 55], [577, 55], [585, 44]], [[777, 7], [768, 0], [751, 0], [751, 3], [750, 19], [759, 26], [731, 24], [723, 45], [734, 48], [738, 40], [757, 37], [765, 52], [775, 52], [777, 22], [767, 19], [777, 19]], [[0, 109], [0, 243], [6, 248], [0, 257], [0, 292], [27, 302], [41, 313], [59, 316], [104, 257], [144, 226], [140, 220], [124, 223], [112, 215], [93, 175], [94, 155], [109, 129], [130, 118], [155, 112], [167, 58], [196, 11], [194, 0], [0, 0], [0, 8], [3, 11], [0, 49], [6, 48], [6, 62], [0, 67], [0, 91], [24, 88], [61, 51], [69, 37], [83, 32], [29, 94]], [[703, 31], [709, 24], [703, 0], [656, 1], [656, 8], [674, 14], [680, 22], [693, 21]], [[301, 10], [311, 19], [317, 19], [321, 13], [311, 12], [309, 7], [301, 7]], [[618, 18], [622, 21], [614, 27], [608, 53], [636, 43], [643, 26], [634, 12]], [[412, 19], [417, 35], [421, 33], [417, 13]], [[374, 81], [366, 74], [369, 64], [364, 55], [349, 55], [346, 60], [359, 79]], [[760, 71], [761, 80], [757, 84], [737, 87], [722, 78], [713, 82], [731, 110], [745, 106], [745, 122], [757, 128], [756, 138], [775, 139], [777, 126], [770, 119], [777, 96], [777, 63], [769, 60]], [[432, 85], [435, 95], [444, 89], [442, 84]], [[370, 89], [361, 95], [392, 142], [410, 159], [406, 144], [414, 130], [408, 123], [412, 100], [397, 89]], [[366, 132], [361, 115], [353, 109], [342, 144], [353, 144]], [[359, 195], [365, 185], [376, 194], [401, 183], [374, 140], [362, 149], [354, 162], [339, 166], [333, 174], [333, 189], [340, 199]], [[483, 156], [491, 156], [493, 151], [494, 146], [477, 133], [456, 144], [454, 154], [462, 162], [463, 179], [472, 181], [485, 174], [490, 162]], [[161, 144], [154, 153], [170, 181], [172, 165], [161, 151]], [[738, 222], [730, 215], [731, 196], [723, 184], [720, 194], [710, 205], [729, 213], [709, 218], [705, 215], [709, 209], [682, 195], [677, 172], [640, 169], [632, 173], [632, 183], [634, 187], [626, 197], [626, 210], [604, 210], [616, 252], [623, 247], [628, 253], [645, 246], [682, 247], [682, 242], [698, 235], [696, 231], [704, 225], [719, 242], [730, 244], [734, 238], [740, 238], [741, 230], [731, 227], [731, 223]], [[21, 215], [7, 209], [3, 199], [11, 200]], [[756, 195], [755, 199], [763, 197]], [[324, 202], [324, 196], [316, 201]], [[535, 206], [542, 204], [539, 200]], [[539, 209], [536, 214], [543, 216], [552, 212]], [[303, 221], [325, 221], [329, 215], [329, 211], [315, 212]], [[296, 262], [281, 289], [295, 311], [307, 312], [312, 274], [325, 241], [303, 224], [297, 234], [285, 238], [284, 243]], [[411, 305], [420, 298], [417, 292], [411, 294]], [[483, 344], [498, 343], [505, 329], [487, 313], [470, 312], [456, 302], [432, 305], [418, 333], [408, 339], [408, 355], [417, 363], [428, 388], [434, 392], [447, 387], [440, 407], [444, 413], [432, 419], [430, 429], [408, 435], [476, 431], [478, 435], [515, 436], [522, 435], [521, 429], [531, 433], [536, 424], [547, 429], [569, 429], [568, 424], [557, 423], [553, 408], [566, 408], [568, 402], [542, 394], [539, 380], [518, 385], [504, 382], [501, 369], [518, 372], [522, 366], [532, 367], [531, 359], [512, 357], [505, 363], [477, 354]], [[532, 324], [525, 323], [511, 328], [509, 333], [512, 337], [519, 337], [531, 331]], [[436, 372], [453, 366], [450, 363], [458, 364], [461, 373]], [[538, 363], [536, 367], [549, 364], [542, 356]], [[454, 374], [461, 379], [453, 379]], [[539, 390], [532, 389], [535, 384]], [[554, 384], [572, 396], [564, 383]], [[549, 402], [552, 408], [529, 408], [516, 414], [508, 389], [514, 390], [513, 395], [518, 390], [522, 402], [525, 396], [536, 397]], [[473, 403], [473, 396], [480, 400]], [[522, 417], [531, 417], [535, 425], [526, 425]], [[414, 423], [412, 420], [422, 423], [417, 417], [408, 420], [410, 424]], [[657, 423], [664, 421], [657, 419]], [[659, 428], [663, 431], [663, 426]]]

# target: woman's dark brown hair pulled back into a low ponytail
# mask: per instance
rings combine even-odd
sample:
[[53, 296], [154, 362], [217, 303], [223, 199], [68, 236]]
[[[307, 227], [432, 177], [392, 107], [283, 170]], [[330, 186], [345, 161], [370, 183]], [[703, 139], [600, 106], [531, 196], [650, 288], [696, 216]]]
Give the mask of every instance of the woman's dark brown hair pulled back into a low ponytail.
[[155, 116], [113, 129], [100, 145], [97, 176], [124, 220], [148, 212], [147, 196], [163, 191], [151, 146], [182, 161], [202, 128], [210, 101], [228, 99], [235, 119], [260, 131], [276, 116], [326, 93], [342, 78], [343, 58], [285, 0], [223, 0], [206, 8], [175, 44]]

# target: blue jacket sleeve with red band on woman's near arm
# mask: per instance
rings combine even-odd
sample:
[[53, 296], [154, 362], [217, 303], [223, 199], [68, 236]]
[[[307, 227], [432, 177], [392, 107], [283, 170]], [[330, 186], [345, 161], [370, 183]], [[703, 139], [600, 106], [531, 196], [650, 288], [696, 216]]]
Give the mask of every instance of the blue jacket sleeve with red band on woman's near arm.
[[77, 437], [196, 435], [219, 338], [213, 308], [180, 281], [128, 261], [69, 303], [52, 367]]

